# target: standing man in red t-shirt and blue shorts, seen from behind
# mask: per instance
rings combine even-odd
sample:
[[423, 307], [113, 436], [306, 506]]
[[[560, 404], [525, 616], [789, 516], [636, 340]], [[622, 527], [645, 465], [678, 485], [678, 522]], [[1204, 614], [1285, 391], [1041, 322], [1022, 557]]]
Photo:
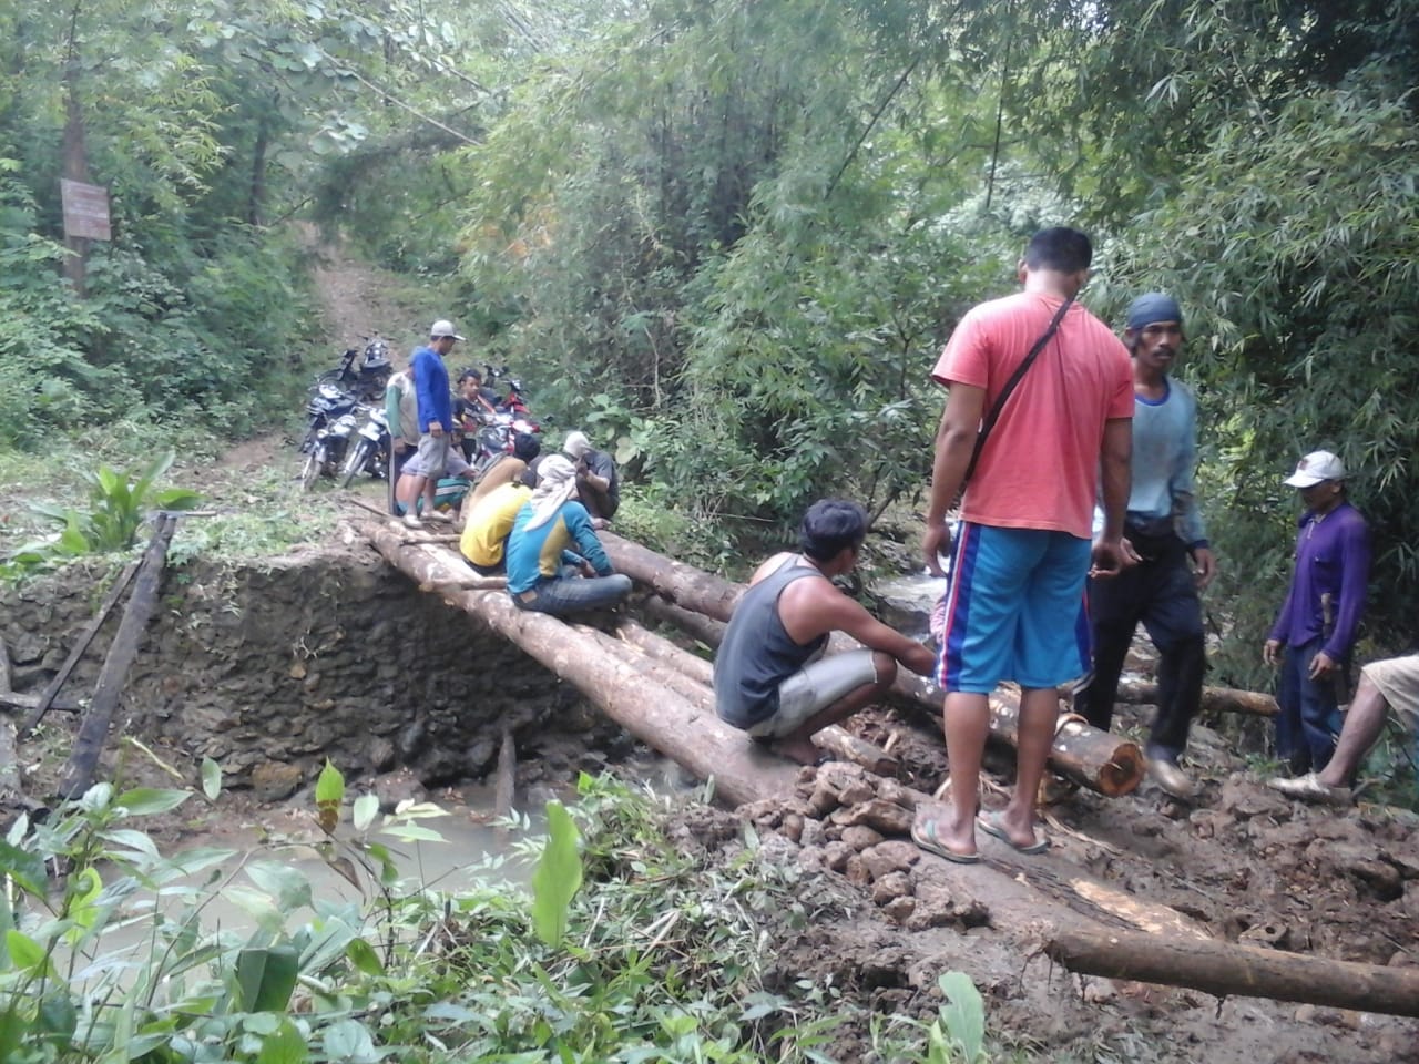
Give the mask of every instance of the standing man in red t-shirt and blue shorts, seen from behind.
[[[932, 370], [949, 389], [922, 538], [937, 576], [949, 539], [946, 509], [982, 417], [1078, 294], [1091, 257], [1078, 230], [1036, 233], [1019, 267], [1025, 291], [971, 309]], [[1054, 738], [1056, 687], [1088, 668], [1088, 633], [1077, 624], [1084, 577], [1091, 563], [1095, 575], [1125, 565], [1132, 413], [1128, 350], [1083, 306], [1069, 306], [1002, 407], [962, 501], [937, 672], [946, 691], [951, 806], [917, 814], [912, 837], [925, 850], [976, 861], [976, 827], [1023, 853], [1049, 846], [1036, 829], [1034, 794]], [[1105, 526], [1091, 546], [1100, 477]], [[1003, 680], [1020, 685], [1016, 786], [1005, 810], [978, 817], [988, 699]]]

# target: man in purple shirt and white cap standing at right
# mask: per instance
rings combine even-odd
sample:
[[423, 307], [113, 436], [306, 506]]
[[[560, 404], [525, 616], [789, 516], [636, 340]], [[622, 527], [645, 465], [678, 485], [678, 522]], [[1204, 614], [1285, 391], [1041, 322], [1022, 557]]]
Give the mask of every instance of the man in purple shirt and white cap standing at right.
[[1345, 465], [1330, 451], [1307, 454], [1287, 480], [1305, 512], [1296, 536], [1291, 589], [1261, 648], [1280, 665], [1276, 752], [1297, 775], [1320, 772], [1335, 750], [1344, 682], [1369, 580], [1369, 529], [1345, 498]]

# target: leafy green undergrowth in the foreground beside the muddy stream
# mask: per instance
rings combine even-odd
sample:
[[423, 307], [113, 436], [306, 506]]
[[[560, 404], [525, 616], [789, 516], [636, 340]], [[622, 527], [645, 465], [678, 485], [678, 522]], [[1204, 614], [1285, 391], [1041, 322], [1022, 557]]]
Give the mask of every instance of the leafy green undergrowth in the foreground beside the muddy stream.
[[[806, 918], [795, 870], [752, 851], [729, 870], [701, 867], [643, 797], [607, 779], [583, 777], [580, 790], [561, 826], [549, 821], [559, 841], [528, 846], [561, 853], [575, 878], [572, 819], [580, 826], [589, 891], [562, 894], [569, 933], [555, 949], [535, 933], [541, 902], [507, 884], [448, 894], [406, 881], [383, 837], [444, 844], [414, 830], [440, 810], [376, 826], [373, 796], [348, 809], [333, 766], [316, 783], [316, 850], [373, 888], [365, 905], [328, 897], [280, 837], [268, 854], [166, 853], [140, 819], [186, 790], [102, 783], [43, 824], [21, 819], [0, 843], [14, 902], [0, 915], [7, 1058], [830, 1060], [850, 1006], [812, 979], [780, 993], [759, 980], [761, 936]], [[68, 868], [54, 890], [51, 861]], [[204, 925], [217, 895], [248, 929]]]

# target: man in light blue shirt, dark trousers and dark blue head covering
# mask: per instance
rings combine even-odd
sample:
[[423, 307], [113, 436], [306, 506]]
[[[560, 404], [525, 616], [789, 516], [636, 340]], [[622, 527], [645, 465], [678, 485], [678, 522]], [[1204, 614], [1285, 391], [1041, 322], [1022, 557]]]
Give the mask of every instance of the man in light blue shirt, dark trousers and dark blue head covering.
[[1132, 488], [1124, 538], [1137, 565], [1088, 582], [1094, 668], [1074, 694], [1074, 708], [1108, 729], [1124, 658], [1141, 621], [1158, 647], [1158, 714], [1145, 746], [1148, 772], [1175, 797], [1192, 782], [1178, 766], [1202, 698], [1206, 654], [1198, 592], [1216, 575], [1193, 494], [1198, 406], [1168, 376], [1182, 348], [1182, 311], [1159, 292], [1128, 308], [1124, 345], [1134, 362]]

